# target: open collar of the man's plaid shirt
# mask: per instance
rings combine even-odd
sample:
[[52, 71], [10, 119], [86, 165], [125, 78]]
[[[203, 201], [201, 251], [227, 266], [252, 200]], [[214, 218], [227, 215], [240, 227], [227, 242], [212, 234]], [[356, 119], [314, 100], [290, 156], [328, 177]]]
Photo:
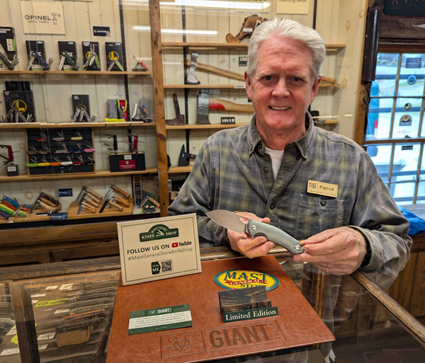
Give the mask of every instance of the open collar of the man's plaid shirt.
[[[264, 144], [263, 139], [261, 139], [259, 130], [256, 128], [256, 119], [255, 114], [251, 118], [248, 131], [248, 143], [249, 143], [249, 156], [251, 156], [254, 151], [258, 151], [259, 154], [264, 155], [266, 152], [266, 144]], [[314, 122], [310, 113], [305, 114], [305, 126], [307, 127], [307, 132], [300, 139], [297, 139], [295, 142], [290, 142], [285, 146], [285, 150], [289, 148], [296, 147], [304, 159], [308, 158], [310, 149], [314, 142]]]

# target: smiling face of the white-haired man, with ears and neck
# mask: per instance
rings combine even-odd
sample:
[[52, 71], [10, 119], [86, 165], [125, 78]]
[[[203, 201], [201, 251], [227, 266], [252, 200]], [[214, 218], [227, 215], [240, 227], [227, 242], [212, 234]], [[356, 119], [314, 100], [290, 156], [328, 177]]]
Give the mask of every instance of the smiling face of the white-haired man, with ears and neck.
[[[279, 132], [295, 141], [305, 133], [305, 112], [317, 95], [320, 80], [312, 79], [312, 52], [291, 38], [271, 38], [259, 48], [253, 79], [245, 72], [261, 136]], [[290, 142], [288, 141], [288, 142]]]

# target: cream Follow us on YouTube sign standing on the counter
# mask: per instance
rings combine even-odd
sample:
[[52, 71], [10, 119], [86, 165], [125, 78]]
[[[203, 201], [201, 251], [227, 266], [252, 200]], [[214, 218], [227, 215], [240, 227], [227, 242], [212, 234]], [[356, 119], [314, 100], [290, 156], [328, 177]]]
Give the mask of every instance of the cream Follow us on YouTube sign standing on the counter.
[[196, 214], [117, 223], [123, 285], [201, 272]]

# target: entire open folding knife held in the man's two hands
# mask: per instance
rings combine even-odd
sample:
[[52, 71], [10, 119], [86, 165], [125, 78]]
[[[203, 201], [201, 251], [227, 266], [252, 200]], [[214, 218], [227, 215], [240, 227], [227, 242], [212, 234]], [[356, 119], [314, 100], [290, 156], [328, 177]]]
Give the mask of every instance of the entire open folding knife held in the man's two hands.
[[304, 252], [304, 248], [302, 248], [300, 241], [297, 241], [285, 231], [278, 229], [278, 227], [271, 226], [261, 221], [254, 221], [254, 219], [241, 217], [236, 213], [223, 209], [216, 209], [206, 214], [210, 219], [215, 221], [215, 223], [232, 231], [247, 233], [252, 238], [256, 236], [265, 236], [268, 241], [285, 247], [294, 255]]

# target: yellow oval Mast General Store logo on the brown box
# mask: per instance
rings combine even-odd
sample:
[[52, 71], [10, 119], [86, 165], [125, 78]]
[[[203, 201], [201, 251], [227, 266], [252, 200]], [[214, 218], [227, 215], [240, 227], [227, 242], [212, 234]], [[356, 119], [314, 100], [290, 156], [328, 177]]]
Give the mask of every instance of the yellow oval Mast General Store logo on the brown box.
[[215, 275], [214, 282], [224, 289], [244, 289], [263, 286], [266, 292], [276, 289], [279, 280], [266, 272], [254, 270], [227, 270]]

